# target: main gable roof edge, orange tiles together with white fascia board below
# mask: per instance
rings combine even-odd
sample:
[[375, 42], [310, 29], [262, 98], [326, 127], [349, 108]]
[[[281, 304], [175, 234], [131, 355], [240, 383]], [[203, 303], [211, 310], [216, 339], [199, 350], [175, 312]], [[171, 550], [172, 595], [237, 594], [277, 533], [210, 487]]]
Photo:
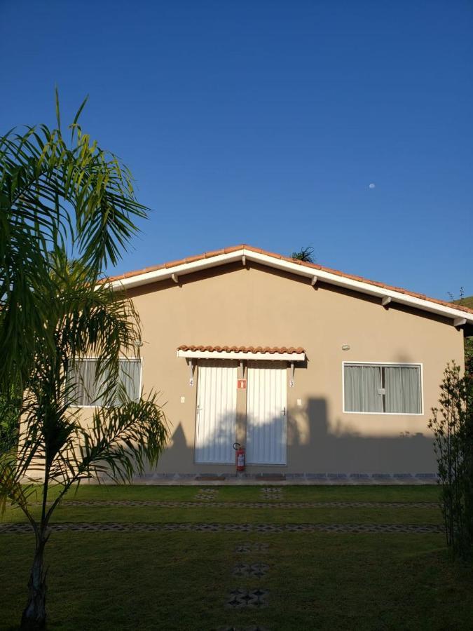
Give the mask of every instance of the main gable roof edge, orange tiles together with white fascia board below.
[[294, 273], [297, 276], [305, 276], [310, 279], [312, 285], [315, 285], [317, 280], [321, 280], [324, 283], [338, 285], [363, 294], [369, 294], [378, 297], [383, 306], [388, 306], [388, 304], [393, 301], [423, 311], [430, 311], [430, 313], [437, 313], [437, 315], [451, 318], [455, 326], [462, 326], [467, 323], [473, 325], [473, 309], [466, 306], [430, 298], [424, 294], [411, 292], [402, 289], [402, 287], [385, 285], [385, 283], [369, 280], [362, 276], [353, 276], [352, 274], [343, 273], [337, 269], [331, 269], [316, 263], [298, 261], [245, 244], [225, 247], [223, 250], [214, 250], [213, 252], [204, 252], [195, 257], [187, 257], [186, 259], [146, 267], [119, 276], [111, 276], [107, 281], [111, 283], [112, 287], [117, 288], [139, 287], [140, 285], [170, 279], [178, 283], [179, 276], [237, 261], [241, 261], [243, 265], [245, 265], [247, 261], [256, 262], [268, 267]]

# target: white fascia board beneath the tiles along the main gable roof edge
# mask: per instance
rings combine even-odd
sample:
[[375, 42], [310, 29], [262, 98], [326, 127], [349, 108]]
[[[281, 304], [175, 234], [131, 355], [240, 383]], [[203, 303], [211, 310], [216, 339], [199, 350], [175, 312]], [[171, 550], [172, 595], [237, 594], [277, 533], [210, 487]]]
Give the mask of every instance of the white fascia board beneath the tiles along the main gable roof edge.
[[275, 269], [296, 274], [297, 276], [310, 278], [311, 280], [313, 280], [314, 276], [317, 276], [317, 280], [322, 280], [330, 285], [338, 285], [339, 287], [345, 287], [345, 289], [355, 292], [376, 296], [380, 299], [390, 298], [393, 302], [415, 307], [421, 311], [429, 311], [430, 313], [443, 315], [445, 318], [452, 318], [453, 320], [460, 317], [465, 318], [467, 323], [473, 324], [473, 313], [467, 313], [465, 311], [461, 311], [460, 309], [436, 304], [429, 300], [416, 298], [415, 296], [410, 296], [409, 294], [403, 294], [402, 292], [388, 290], [384, 287], [377, 287], [376, 285], [371, 285], [371, 283], [364, 283], [362, 280], [354, 280], [353, 278], [347, 278], [346, 276], [339, 276], [338, 274], [334, 274], [323, 269], [310, 268], [301, 264], [285, 261], [283, 259], [270, 257], [268, 255], [261, 254], [260, 252], [245, 250], [245, 248], [235, 250], [235, 252], [228, 252], [228, 254], [209, 257], [208, 259], [198, 259], [198, 261], [193, 261], [191, 263], [182, 263], [173, 267], [137, 274], [137, 276], [131, 276], [130, 278], [114, 280], [111, 283], [111, 287], [114, 289], [127, 289], [137, 287], [139, 285], [156, 283], [159, 280], [168, 280], [172, 278], [172, 275], [179, 277], [202, 269], [217, 267], [219, 265], [233, 263], [235, 261], [242, 261], [242, 257], [245, 257], [245, 261], [261, 263]]

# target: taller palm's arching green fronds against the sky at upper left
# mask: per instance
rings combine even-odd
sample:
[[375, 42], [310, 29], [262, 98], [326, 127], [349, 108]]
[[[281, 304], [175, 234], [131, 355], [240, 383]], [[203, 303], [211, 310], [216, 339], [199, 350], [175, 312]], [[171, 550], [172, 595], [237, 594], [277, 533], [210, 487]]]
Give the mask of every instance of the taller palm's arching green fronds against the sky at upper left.
[[93, 283], [104, 266], [116, 264], [136, 220], [146, 217], [128, 168], [78, 125], [85, 101], [70, 140], [62, 134], [57, 91], [57, 128], [37, 125], [0, 137], [0, 393], [25, 379], [34, 363], [36, 336], [29, 333], [41, 330], [48, 311], [37, 292], [50, 272], [48, 252], [67, 247]]

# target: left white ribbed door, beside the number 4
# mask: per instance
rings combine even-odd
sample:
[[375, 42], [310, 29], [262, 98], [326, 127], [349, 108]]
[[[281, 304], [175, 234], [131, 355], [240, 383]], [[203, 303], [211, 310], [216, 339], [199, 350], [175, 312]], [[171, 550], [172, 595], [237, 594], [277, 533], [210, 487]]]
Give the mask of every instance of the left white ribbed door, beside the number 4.
[[196, 463], [235, 462], [235, 362], [200, 360], [196, 411]]

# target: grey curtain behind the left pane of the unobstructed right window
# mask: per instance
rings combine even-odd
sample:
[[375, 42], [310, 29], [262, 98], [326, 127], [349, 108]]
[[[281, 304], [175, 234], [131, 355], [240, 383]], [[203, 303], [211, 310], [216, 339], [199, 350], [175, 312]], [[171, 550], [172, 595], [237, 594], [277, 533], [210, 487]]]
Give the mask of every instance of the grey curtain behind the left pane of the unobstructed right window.
[[383, 412], [381, 366], [345, 365], [345, 412]]

